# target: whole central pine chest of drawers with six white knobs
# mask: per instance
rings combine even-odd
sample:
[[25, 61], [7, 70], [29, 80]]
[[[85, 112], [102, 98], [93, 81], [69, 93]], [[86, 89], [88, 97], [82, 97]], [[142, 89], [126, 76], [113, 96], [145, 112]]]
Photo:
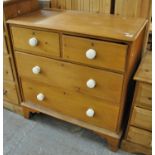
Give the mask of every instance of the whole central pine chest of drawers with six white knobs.
[[116, 150], [146, 21], [38, 10], [8, 24], [25, 117], [37, 111], [77, 124]]

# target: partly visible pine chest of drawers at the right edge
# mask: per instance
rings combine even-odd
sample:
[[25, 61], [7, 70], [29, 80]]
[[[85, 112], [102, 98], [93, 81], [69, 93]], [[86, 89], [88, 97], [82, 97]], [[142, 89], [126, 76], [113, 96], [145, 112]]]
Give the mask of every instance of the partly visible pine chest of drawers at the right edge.
[[147, 52], [134, 76], [136, 90], [122, 147], [152, 154], [152, 54]]

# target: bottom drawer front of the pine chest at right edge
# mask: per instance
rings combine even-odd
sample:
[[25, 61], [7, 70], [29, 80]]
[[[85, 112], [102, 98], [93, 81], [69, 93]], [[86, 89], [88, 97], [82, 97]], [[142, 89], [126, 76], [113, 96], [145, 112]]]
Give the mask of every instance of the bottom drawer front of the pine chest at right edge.
[[147, 147], [152, 147], [152, 133], [146, 130], [129, 127], [127, 140]]

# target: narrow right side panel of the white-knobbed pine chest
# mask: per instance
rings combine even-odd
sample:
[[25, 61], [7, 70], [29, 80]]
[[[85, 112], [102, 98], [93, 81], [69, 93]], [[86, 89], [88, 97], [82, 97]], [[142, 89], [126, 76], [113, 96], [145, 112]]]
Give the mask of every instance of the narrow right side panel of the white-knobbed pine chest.
[[126, 106], [127, 102], [127, 90], [129, 88], [129, 82], [133, 76], [133, 74], [136, 72], [136, 65], [141, 59], [141, 53], [142, 53], [142, 45], [144, 41], [144, 33], [145, 29], [139, 34], [138, 38], [132, 43], [129, 44], [128, 48], [128, 54], [127, 54], [127, 59], [126, 59], [126, 72], [124, 75], [124, 84], [123, 84], [123, 90], [122, 90], [122, 98], [121, 98], [121, 103], [122, 106], [120, 107], [120, 118], [119, 118], [119, 123], [118, 126], [122, 125], [122, 119], [124, 114], [124, 108]]

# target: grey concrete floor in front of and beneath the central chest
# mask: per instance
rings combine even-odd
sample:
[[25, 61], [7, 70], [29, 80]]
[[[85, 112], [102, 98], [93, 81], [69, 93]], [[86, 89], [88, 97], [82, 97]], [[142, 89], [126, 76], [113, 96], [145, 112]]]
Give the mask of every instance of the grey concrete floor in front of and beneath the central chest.
[[111, 152], [93, 132], [37, 114], [30, 120], [4, 110], [4, 155], [131, 155]]

